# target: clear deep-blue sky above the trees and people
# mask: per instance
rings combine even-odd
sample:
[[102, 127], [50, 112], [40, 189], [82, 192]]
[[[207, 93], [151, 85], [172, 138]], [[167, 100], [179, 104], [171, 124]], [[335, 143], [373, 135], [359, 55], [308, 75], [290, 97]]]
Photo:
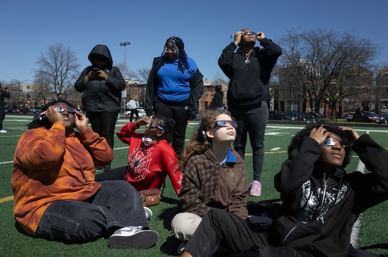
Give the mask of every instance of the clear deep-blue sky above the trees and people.
[[[150, 68], [170, 36], [179, 36], [205, 78], [222, 74], [221, 51], [242, 29], [276, 39], [292, 28], [331, 29], [380, 44], [388, 63], [388, 0], [0, 0], [0, 81], [32, 80], [36, 59], [48, 46], [75, 51], [81, 69], [87, 55], [105, 44], [113, 63]], [[80, 70], [81, 72], [81, 70]]]

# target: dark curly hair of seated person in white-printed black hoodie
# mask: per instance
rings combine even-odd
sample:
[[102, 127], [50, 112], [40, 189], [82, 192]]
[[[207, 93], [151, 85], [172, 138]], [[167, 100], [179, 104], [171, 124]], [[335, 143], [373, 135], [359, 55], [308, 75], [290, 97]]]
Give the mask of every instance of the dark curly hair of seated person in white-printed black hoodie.
[[291, 143], [288, 147], [287, 152], [289, 154], [289, 157], [293, 150], [299, 148], [302, 142], [302, 138], [308, 137], [313, 128], [317, 128], [321, 125], [323, 125], [328, 132], [335, 133], [342, 139], [342, 142], [345, 145], [345, 158], [343, 160], [342, 167], [345, 168], [350, 162], [350, 153], [353, 151], [351, 147], [346, 146], [353, 145], [354, 139], [349, 132], [341, 130], [339, 126], [335, 123], [320, 122], [319, 124], [308, 124], [304, 129], [297, 131], [295, 136], [292, 137]]

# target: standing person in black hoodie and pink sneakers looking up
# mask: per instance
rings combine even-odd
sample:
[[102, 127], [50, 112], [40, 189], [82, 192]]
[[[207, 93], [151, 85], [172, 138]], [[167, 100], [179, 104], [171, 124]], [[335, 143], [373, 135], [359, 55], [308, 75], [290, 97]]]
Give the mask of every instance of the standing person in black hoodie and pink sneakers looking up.
[[[255, 47], [256, 39], [260, 46]], [[237, 49], [236, 52], [234, 52]], [[264, 162], [264, 133], [268, 121], [268, 87], [272, 69], [282, 53], [280, 47], [264, 36], [242, 30], [234, 34], [218, 59], [218, 65], [230, 79], [227, 91], [228, 110], [239, 125], [234, 149], [244, 158], [247, 133], [253, 154], [253, 182], [249, 194], [261, 195], [261, 172]]]

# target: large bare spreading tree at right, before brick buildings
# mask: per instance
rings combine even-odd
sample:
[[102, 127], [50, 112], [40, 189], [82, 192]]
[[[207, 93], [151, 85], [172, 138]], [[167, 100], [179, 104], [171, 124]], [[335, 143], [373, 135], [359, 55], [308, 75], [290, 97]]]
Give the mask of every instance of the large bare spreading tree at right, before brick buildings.
[[279, 45], [283, 51], [280, 62], [289, 69], [292, 83], [302, 87], [300, 94], [307, 94], [317, 110], [323, 102], [335, 106], [343, 98], [354, 95], [356, 89], [359, 93], [357, 83], [347, 84], [343, 90], [344, 74], [352, 67], [373, 69], [372, 62], [381, 50], [369, 39], [333, 29], [302, 32], [292, 29], [280, 38]]

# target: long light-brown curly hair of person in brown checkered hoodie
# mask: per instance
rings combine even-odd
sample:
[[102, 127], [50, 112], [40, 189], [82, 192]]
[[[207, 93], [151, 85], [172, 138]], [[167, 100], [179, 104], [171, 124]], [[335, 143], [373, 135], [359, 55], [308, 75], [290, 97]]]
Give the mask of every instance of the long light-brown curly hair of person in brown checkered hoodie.
[[183, 154], [179, 161], [180, 169], [183, 171], [186, 167], [189, 159], [196, 154], [203, 154], [211, 147], [211, 139], [206, 140], [204, 143], [201, 143], [198, 140], [198, 133], [200, 133], [200, 129], [207, 131], [214, 127], [214, 123], [217, 120], [217, 116], [221, 114], [229, 115], [232, 120], [232, 115], [226, 110], [207, 110], [203, 113], [201, 118], [201, 123], [194, 130], [192, 137], [190, 138], [187, 147], [183, 151]]

